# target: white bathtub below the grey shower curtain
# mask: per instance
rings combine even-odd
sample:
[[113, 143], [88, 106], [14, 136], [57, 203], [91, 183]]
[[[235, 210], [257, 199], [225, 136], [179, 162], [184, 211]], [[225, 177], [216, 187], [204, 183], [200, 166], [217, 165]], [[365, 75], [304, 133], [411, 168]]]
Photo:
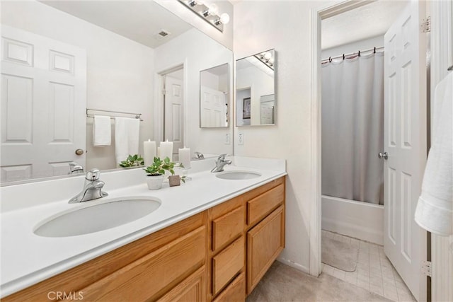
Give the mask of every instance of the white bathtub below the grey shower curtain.
[[323, 230], [384, 245], [384, 206], [322, 195], [321, 213]]

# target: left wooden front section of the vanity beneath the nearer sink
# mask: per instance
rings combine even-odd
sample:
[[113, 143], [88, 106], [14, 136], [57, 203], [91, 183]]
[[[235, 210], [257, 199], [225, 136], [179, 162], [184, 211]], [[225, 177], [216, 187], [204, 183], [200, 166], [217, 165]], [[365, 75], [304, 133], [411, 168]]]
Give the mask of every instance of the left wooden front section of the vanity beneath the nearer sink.
[[56, 292], [84, 301], [156, 300], [205, 265], [206, 226], [204, 211], [1, 301], [48, 301]]

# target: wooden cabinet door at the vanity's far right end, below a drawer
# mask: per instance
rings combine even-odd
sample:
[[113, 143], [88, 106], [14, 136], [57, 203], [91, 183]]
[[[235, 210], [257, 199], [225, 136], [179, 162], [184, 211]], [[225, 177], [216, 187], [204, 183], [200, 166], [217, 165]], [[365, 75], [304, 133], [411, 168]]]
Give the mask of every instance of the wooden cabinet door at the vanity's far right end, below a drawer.
[[247, 294], [285, 248], [285, 211], [280, 206], [247, 232]]

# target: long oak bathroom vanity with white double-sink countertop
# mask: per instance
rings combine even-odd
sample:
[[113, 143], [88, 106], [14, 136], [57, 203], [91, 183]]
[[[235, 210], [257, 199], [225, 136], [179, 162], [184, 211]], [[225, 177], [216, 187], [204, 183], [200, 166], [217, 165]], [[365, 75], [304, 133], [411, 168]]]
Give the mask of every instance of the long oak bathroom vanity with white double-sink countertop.
[[[245, 300], [285, 246], [286, 173], [284, 161], [260, 162], [256, 158], [238, 157], [233, 161], [234, 165], [227, 167], [226, 173], [241, 175], [246, 170], [256, 177], [222, 179], [217, 177], [222, 173], [210, 173], [203, 168], [197, 171], [195, 164], [193, 180], [177, 188], [164, 187], [153, 192], [147, 190], [144, 180], [139, 185], [111, 190], [109, 178], [114, 182], [118, 175], [101, 175], [110, 197], [153, 195], [161, 200], [161, 207], [132, 223], [97, 234], [72, 236], [69, 241], [68, 238], [40, 238], [30, 228], [31, 235], [24, 238], [30, 240], [29, 251], [35, 245], [38, 255], [41, 252], [51, 255], [43, 259], [41, 269], [32, 267], [28, 273], [23, 266], [33, 261], [11, 259], [21, 267], [23, 276], [9, 277], [12, 280], [1, 285], [2, 291], [10, 291], [2, 300], [46, 301], [52, 298], [49, 293], [54, 296], [62, 293], [66, 296], [60, 298], [73, 300], [83, 297], [85, 301]], [[266, 161], [273, 163], [269, 165]], [[210, 166], [210, 161], [204, 162], [200, 165]], [[272, 165], [275, 170], [268, 169]], [[131, 179], [138, 176], [133, 175], [136, 172], [122, 171], [130, 174]], [[58, 208], [55, 211], [72, 207], [63, 202], [53, 204]], [[42, 207], [50, 209], [52, 204]], [[13, 216], [21, 211], [26, 214], [28, 210], [2, 213], [2, 218], [6, 217], [4, 226]], [[35, 213], [40, 216], [39, 211]], [[99, 241], [93, 243], [93, 239]], [[72, 240], [74, 246], [79, 244], [84, 248], [68, 257], [69, 247], [62, 246], [61, 253], [50, 248], [46, 251], [38, 248], [40, 240], [43, 244]], [[27, 243], [19, 245], [25, 247]], [[2, 253], [2, 265], [8, 263], [6, 257], [12, 255], [11, 249], [14, 248], [2, 247], [2, 252], [6, 251], [6, 255]], [[86, 260], [88, 255], [91, 259]], [[61, 272], [55, 274], [58, 269]], [[6, 267], [2, 277], [12, 275], [12, 270], [13, 265]], [[23, 286], [24, 280], [28, 286]]]

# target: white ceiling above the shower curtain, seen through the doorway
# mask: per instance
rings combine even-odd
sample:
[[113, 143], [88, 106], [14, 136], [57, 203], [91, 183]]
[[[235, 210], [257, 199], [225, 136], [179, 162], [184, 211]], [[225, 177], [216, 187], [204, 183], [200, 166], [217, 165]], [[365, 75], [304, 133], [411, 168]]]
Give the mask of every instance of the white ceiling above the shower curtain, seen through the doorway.
[[407, 0], [379, 0], [323, 20], [321, 48], [384, 35], [407, 4]]

